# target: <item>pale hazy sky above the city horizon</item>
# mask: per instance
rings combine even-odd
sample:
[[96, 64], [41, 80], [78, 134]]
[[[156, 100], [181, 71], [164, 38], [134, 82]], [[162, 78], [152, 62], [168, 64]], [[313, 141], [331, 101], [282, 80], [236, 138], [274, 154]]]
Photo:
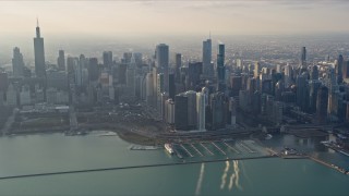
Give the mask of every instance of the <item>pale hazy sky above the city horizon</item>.
[[[349, 33], [349, 0], [3, 1], [2, 36]], [[1, 36], [1, 37], [2, 37]]]

